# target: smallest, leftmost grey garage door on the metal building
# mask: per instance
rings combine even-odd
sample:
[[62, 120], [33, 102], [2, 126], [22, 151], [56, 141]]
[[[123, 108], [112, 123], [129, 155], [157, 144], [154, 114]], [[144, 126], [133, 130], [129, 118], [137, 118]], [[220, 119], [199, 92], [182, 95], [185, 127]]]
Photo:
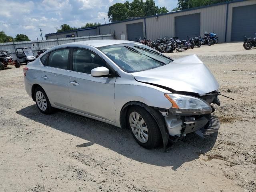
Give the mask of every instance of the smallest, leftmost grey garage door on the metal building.
[[129, 41], [136, 41], [136, 38], [144, 37], [143, 33], [143, 22], [127, 24], [127, 39]]

